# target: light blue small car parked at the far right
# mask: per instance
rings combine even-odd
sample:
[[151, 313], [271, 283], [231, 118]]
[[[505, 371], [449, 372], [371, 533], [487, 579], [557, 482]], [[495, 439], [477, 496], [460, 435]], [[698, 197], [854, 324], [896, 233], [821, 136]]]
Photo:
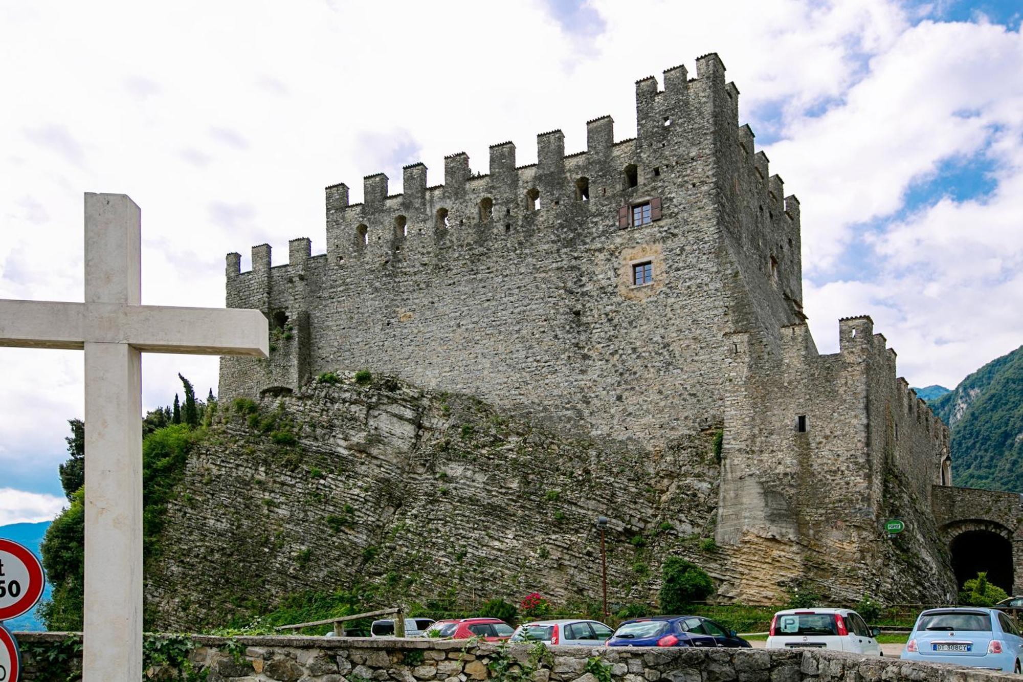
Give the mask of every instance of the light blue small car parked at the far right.
[[1020, 673], [1023, 637], [994, 608], [931, 608], [919, 616], [901, 658]]

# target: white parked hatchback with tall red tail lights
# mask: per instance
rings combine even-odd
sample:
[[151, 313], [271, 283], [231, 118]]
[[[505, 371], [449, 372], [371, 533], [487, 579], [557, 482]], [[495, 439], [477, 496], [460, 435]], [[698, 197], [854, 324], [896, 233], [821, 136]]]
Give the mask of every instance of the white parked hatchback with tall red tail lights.
[[848, 608], [790, 608], [771, 619], [767, 648], [814, 647], [880, 656], [880, 634]]

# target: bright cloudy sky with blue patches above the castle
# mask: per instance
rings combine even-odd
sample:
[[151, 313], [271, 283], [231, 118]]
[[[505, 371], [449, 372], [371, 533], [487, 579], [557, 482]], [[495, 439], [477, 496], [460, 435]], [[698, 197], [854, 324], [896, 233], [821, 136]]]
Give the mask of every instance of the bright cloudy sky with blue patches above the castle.
[[[0, 298], [82, 300], [82, 194], [142, 207], [144, 303], [223, 304], [224, 254], [324, 249], [323, 187], [587, 119], [635, 127], [633, 82], [718, 52], [741, 119], [799, 196], [822, 352], [870, 313], [910, 384], [1023, 344], [1019, 0], [0, 2]], [[61, 504], [79, 352], [0, 349], [0, 524]], [[217, 360], [146, 355], [143, 402]]]

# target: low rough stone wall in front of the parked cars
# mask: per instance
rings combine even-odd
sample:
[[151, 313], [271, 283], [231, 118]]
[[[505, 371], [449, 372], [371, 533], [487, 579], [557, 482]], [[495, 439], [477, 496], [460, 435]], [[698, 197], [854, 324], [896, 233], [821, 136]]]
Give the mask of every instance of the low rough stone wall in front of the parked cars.
[[[65, 633], [19, 633], [41, 655], [25, 656], [25, 682], [60, 679], [76, 682], [80, 671], [45, 659], [46, 647], [59, 646]], [[542, 657], [529, 645], [501, 647], [469, 641], [359, 639], [324, 637], [192, 637], [190, 660], [195, 671], [208, 671], [208, 682], [469, 682], [517, 680], [532, 682], [984, 682], [1013, 679], [989, 671], [945, 665], [868, 658], [821, 649], [714, 649], [659, 647], [547, 647]], [[501, 672], [506, 671], [506, 672]], [[153, 670], [154, 679], [173, 679], [174, 672]], [[525, 673], [525, 675], [524, 675]], [[531, 673], [531, 675], [529, 674]], [[606, 677], [605, 677], [606, 676]]]

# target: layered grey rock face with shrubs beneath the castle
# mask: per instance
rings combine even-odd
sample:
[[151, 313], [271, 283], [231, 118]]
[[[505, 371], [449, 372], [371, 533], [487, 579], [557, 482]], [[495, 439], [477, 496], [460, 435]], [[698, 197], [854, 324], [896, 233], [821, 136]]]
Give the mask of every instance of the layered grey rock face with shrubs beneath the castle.
[[[332, 377], [330, 378], [332, 380]], [[731, 580], [707, 539], [713, 433], [649, 451], [566, 438], [391, 378], [236, 400], [192, 452], [147, 576], [153, 627], [221, 625], [304, 590], [464, 606], [538, 590], [649, 601], [666, 553]]]

